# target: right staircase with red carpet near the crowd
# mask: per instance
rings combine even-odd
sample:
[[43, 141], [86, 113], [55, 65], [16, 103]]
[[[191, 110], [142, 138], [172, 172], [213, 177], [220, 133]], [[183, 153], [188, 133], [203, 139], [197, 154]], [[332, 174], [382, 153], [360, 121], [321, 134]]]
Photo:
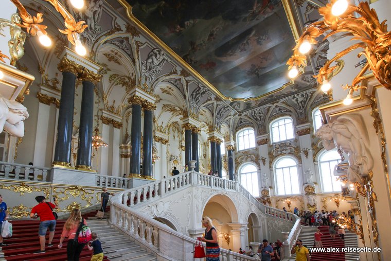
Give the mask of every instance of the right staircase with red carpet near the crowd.
[[[306, 245], [308, 248], [314, 246], [314, 234], [316, 230], [321, 230], [322, 243], [323, 247], [334, 247], [334, 248], [343, 248], [343, 247], [358, 247], [357, 235], [351, 233], [350, 231], [345, 230], [345, 241], [340, 239], [338, 235], [335, 235], [335, 239], [332, 240], [329, 233], [329, 228], [327, 226], [321, 225], [320, 227], [309, 227], [302, 226], [298, 239], [303, 240], [303, 245]], [[311, 261], [357, 261], [359, 260], [359, 253], [343, 253], [343, 252], [312, 252]]]

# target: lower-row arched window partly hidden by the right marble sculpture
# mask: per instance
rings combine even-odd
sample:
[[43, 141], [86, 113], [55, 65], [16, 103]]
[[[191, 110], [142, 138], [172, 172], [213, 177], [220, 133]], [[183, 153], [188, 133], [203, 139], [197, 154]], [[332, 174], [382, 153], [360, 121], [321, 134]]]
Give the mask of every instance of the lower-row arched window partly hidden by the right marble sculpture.
[[334, 176], [334, 167], [341, 162], [340, 154], [334, 149], [319, 156], [319, 173], [323, 192], [341, 192], [341, 184]]

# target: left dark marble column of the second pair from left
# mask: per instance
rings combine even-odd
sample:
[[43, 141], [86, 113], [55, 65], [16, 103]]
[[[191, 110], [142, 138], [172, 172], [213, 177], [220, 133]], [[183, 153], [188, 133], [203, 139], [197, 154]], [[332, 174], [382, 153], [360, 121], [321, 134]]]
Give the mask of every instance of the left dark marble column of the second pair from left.
[[128, 99], [132, 104], [132, 129], [130, 143], [132, 146], [130, 157], [130, 178], [140, 177], [140, 149], [141, 149], [141, 105], [143, 99], [133, 95]]

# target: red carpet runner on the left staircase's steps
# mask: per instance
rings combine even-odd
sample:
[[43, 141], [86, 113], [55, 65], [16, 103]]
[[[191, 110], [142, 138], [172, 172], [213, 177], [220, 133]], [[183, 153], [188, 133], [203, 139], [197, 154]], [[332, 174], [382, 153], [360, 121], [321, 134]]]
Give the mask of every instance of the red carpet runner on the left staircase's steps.
[[[110, 207], [106, 207], [106, 212], [110, 210]], [[94, 217], [97, 211], [84, 213], [83, 218]], [[12, 220], [12, 219], [11, 219]], [[64, 261], [66, 260], [66, 246], [68, 239], [65, 238], [62, 249], [58, 249], [58, 243], [62, 232], [65, 220], [57, 220], [55, 237], [52, 241], [53, 246], [47, 247], [47, 240], [49, 238], [49, 230], [46, 233], [46, 247], [44, 254], [32, 254], [32, 252], [40, 249], [38, 239], [38, 220], [12, 220], [12, 237], [5, 238], [4, 243], [7, 243], [7, 247], [3, 247], [4, 257], [12, 261], [28, 261], [28, 260], [40, 260], [40, 261]], [[88, 220], [87, 220], [88, 223]], [[94, 231], [92, 231], [94, 232]], [[99, 237], [99, 235], [98, 235]], [[93, 251], [89, 251], [87, 247], [84, 247], [83, 252], [80, 254], [80, 261], [87, 261], [91, 259]], [[109, 261], [106, 257], [103, 260]]]

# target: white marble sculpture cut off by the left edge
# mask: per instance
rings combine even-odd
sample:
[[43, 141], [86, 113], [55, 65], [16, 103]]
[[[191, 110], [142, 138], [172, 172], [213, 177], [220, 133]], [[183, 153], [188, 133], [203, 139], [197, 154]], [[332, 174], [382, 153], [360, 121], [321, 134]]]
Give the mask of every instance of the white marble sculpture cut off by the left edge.
[[24, 123], [28, 118], [26, 107], [15, 100], [8, 100], [0, 97], [0, 133], [3, 129], [9, 134], [23, 137]]

